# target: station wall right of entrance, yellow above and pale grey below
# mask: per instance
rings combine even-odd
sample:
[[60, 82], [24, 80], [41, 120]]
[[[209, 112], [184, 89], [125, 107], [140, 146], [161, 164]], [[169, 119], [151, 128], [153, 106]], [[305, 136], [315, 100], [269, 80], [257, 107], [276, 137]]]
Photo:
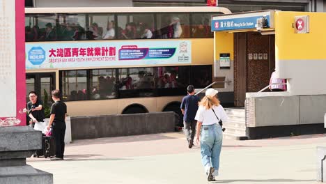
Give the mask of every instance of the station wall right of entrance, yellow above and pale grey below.
[[[275, 14], [277, 77], [287, 79], [290, 95], [325, 95], [326, 13]], [[309, 15], [309, 33], [295, 33], [295, 16]]]

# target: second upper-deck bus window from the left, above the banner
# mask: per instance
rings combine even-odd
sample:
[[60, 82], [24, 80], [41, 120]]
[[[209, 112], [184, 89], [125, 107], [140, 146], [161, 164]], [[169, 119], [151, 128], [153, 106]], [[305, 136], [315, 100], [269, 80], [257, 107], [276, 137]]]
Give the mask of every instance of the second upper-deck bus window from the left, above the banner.
[[61, 14], [56, 24], [58, 40], [86, 40], [86, 18], [83, 14]]

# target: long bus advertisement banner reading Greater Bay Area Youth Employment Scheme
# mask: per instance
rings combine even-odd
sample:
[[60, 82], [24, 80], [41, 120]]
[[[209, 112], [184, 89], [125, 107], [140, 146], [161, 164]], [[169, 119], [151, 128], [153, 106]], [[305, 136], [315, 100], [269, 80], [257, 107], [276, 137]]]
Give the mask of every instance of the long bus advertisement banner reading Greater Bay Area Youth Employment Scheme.
[[191, 51], [188, 40], [26, 43], [26, 69], [187, 64]]

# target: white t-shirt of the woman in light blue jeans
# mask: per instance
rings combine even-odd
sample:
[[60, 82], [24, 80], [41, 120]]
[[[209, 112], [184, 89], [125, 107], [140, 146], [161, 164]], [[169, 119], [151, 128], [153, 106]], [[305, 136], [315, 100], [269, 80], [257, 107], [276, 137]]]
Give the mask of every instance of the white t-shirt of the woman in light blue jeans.
[[[215, 114], [219, 119], [222, 119], [223, 122], [228, 121], [228, 116], [226, 115], [222, 105], [213, 106], [212, 108], [214, 109]], [[214, 123], [219, 123], [215, 114], [212, 109], [205, 109], [202, 105], [200, 105], [196, 113], [195, 120], [202, 122], [203, 125], [212, 125]]]

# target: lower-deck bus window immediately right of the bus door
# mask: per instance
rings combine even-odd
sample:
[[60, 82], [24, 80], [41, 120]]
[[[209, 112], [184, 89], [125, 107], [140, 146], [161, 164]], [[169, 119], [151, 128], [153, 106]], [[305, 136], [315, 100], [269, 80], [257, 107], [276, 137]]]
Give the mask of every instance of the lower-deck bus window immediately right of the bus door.
[[86, 70], [62, 72], [63, 98], [69, 101], [88, 100]]

